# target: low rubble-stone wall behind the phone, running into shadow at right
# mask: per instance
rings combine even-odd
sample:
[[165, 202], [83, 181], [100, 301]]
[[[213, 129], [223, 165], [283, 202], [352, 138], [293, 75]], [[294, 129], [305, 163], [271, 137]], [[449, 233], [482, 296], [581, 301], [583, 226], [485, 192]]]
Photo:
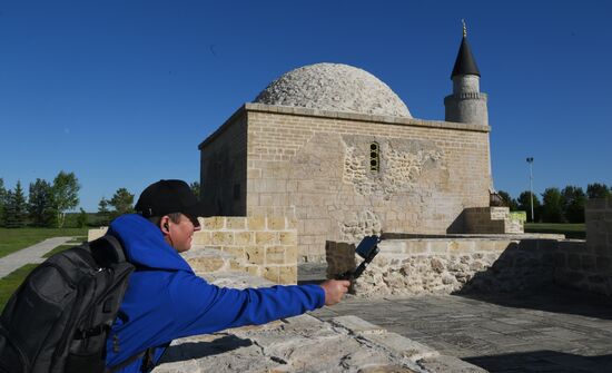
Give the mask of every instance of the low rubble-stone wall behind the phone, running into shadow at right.
[[[586, 203], [586, 242], [561, 235], [455, 235], [383, 241], [352, 287], [362, 296], [570, 286], [612, 296], [612, 199]], [[327, 275], [355, 267], [355, 246], [328, 242]]]

